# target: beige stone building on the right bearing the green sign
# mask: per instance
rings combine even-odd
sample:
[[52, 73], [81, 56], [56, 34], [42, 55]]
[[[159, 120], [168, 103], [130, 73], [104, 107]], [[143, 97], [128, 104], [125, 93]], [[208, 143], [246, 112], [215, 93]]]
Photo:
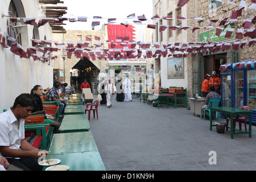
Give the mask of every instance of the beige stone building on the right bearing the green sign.
[[[156, 42], [201, 42], [200, 38], [203, 38], [208, 31], [214, 31], [216, 27], [219, 26], [222, 19], [230, 15], [232, 10], [240, 9], [240, 1], [233, 1], [236, 5], [231, 5], [230, 3], [219, 2], [219, 1], [208, 1], [208, 0], [191, 0], [183, 7], [177, 7], [178, 1], [171, 0], [153, 0], [153, 14], [159, 15], [161, 19], [155, 20], [158, 24], [158, 30], [154, 32], [154, 41]], [[251, 1], [246, 1], [247, 5], [250, 6]], [[232, 39], [223, 40], [220, 38], [210, 39], [211, 42], [220, 43], [233, 43], [236, 41], [242, 42], [243, 40], [249, 40], [248, 36], [243, 39], [235, 39], [238, 28], [243, 24], [243, 20], [253, 18], [256, 14], [256, 10], [245, 7], [242, 10], [241, 16], [238, 16], [237, 21], [233, 24], [234, 37]], [[163, 19], [166, 16], [172, 16], [173, 20]], [[187, 20], [179, 20], [177, 16], [182, 16]], [[193, 17], [198, 17], [200, 19], [193, 19]], [[218, 20], [217, 22], [210, 22], [209, 20]], [[228, 21], [227, 21], [228, 22]], [[226, 23], [227, 23], [226, 22]], [[209, 26], [212, 28], [204, 28]], [[160, 25], [168, 26], [189, 26], [187, 30], [167, 30], [160, 32]], [[193, 27], [203, 27], [192, 32]], [[251, 27], [255, 28], [255, 24], [251, 23]], [[246, 31], [245, 31], [246, 32]], [[209, 41], [209, 40], [208, 40]], [[180, 44], [181, 46], [181, 44]], [[220, 49], [217, 52], [212, 52], [209, 54], [207, 51], [197, 53], [197, 55], [191, 56], [190, 54], [184, 58], [184, 76], [180, 78], [168, 77], [168, 60], [173, 59], [172, 57], [160, 57], [155, 59], [154, 67], [155, 72], [161, 73], [161, 85], [164, 87], [169, 86], [183, 86], [188, 89], [188, 97], [195, 96], [196, 93], [201, 92], [201, 83], [204, 80], [204, 75], [206, 73], [211, 74], [212, 71], [220, 73], [218, 69], [221, 64], [226, 63], [236, 63], [240, 61], [255, 60], [256, 47], [253, 44], [251, 47], [246, 44], [245, 47], [237, 51], [233, 50], [231, 46], [228, 50], [222, 51]], [[160, 66], [159, 66], [160, 65]]]

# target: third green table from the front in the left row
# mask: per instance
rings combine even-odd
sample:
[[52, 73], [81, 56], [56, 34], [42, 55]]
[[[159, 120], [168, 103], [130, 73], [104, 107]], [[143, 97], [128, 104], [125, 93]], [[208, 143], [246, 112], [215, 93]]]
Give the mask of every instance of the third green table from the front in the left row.
[[72, 133], [89, 131], [90, 125], [86, 114], [65, 115], [59, 131], [60, 133]]

